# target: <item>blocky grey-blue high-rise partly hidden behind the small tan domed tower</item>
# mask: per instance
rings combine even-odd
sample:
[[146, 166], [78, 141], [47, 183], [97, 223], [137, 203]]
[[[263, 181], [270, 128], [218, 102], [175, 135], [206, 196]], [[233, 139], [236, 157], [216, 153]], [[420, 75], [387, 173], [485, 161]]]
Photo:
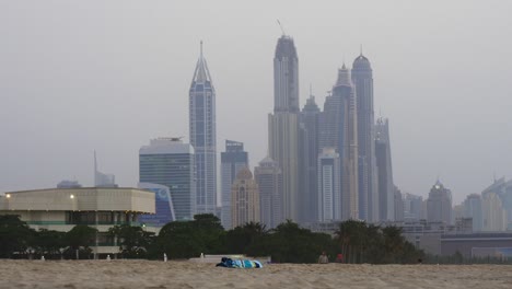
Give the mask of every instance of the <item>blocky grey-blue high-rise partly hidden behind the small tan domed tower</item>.
[[244, 167], [248, 167], [248, 154], [244, 151], [244, 143], [225, 140], [225, 152], [221, 152], [221, 222], [225, 230], [232, 229], [231, 185], [233, 185], [236, 175]]

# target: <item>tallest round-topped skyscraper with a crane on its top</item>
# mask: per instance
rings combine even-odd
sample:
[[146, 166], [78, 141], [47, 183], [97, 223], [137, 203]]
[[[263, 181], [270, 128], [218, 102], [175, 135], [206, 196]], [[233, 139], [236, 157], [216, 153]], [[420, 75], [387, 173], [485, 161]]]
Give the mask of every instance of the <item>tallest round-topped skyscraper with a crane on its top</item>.
[[283, 178], [283, 217], [299, 219], [299, 59], [290, 36], [282, 35], [274, 58], [274, 114], [268, 116], [269, 154]]

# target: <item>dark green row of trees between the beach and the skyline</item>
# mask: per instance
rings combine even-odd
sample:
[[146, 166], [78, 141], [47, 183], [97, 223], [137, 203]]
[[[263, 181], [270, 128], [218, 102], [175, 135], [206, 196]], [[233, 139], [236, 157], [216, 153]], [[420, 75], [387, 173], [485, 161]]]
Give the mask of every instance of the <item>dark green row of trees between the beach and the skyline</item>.
[[[27, 254], [66, 258], [88, 258], [97, 231], [75, 226], [69, 232], [35, 231], [18, 216], [0, 216], [0, 257]], [[183, 259], [203, 254], [245, 254], [271, 256], [279, 263], [316, 263], [326, 252], [330, 261], [337, 254], [346, 263], [416, 263], [423, 253], [407, 242], [396, 227], [377, 227], [363, 221], [341, 222], [331, 236], [315, 233], [288, 220], [267, 230], [264, 224], [249, 222], [224, 231], [219, 218], [211, 213], [196, 215], [190, 221], [165, 224], [159, 235], [141, 227], [115, 226], [108, 231], [117, 241], [124, 258]]]

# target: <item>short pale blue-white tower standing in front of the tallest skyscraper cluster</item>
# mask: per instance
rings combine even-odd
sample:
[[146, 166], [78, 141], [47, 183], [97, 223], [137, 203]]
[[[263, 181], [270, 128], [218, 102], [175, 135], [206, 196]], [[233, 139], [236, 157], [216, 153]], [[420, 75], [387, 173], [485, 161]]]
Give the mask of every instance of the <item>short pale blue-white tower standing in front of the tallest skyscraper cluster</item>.
[[318, 155], [318, 221], [341, 220], [341, 173], [339, 153], [324, 148]]

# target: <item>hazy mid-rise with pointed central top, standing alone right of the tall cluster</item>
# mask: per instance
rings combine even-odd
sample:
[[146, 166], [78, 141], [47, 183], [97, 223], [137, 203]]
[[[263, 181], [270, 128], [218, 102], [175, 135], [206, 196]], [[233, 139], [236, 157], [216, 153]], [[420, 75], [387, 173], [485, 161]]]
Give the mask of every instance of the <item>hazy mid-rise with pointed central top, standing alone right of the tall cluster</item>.
[[452, 192], [438, 180], [427, 199], [427, 221], [452, 224]]

